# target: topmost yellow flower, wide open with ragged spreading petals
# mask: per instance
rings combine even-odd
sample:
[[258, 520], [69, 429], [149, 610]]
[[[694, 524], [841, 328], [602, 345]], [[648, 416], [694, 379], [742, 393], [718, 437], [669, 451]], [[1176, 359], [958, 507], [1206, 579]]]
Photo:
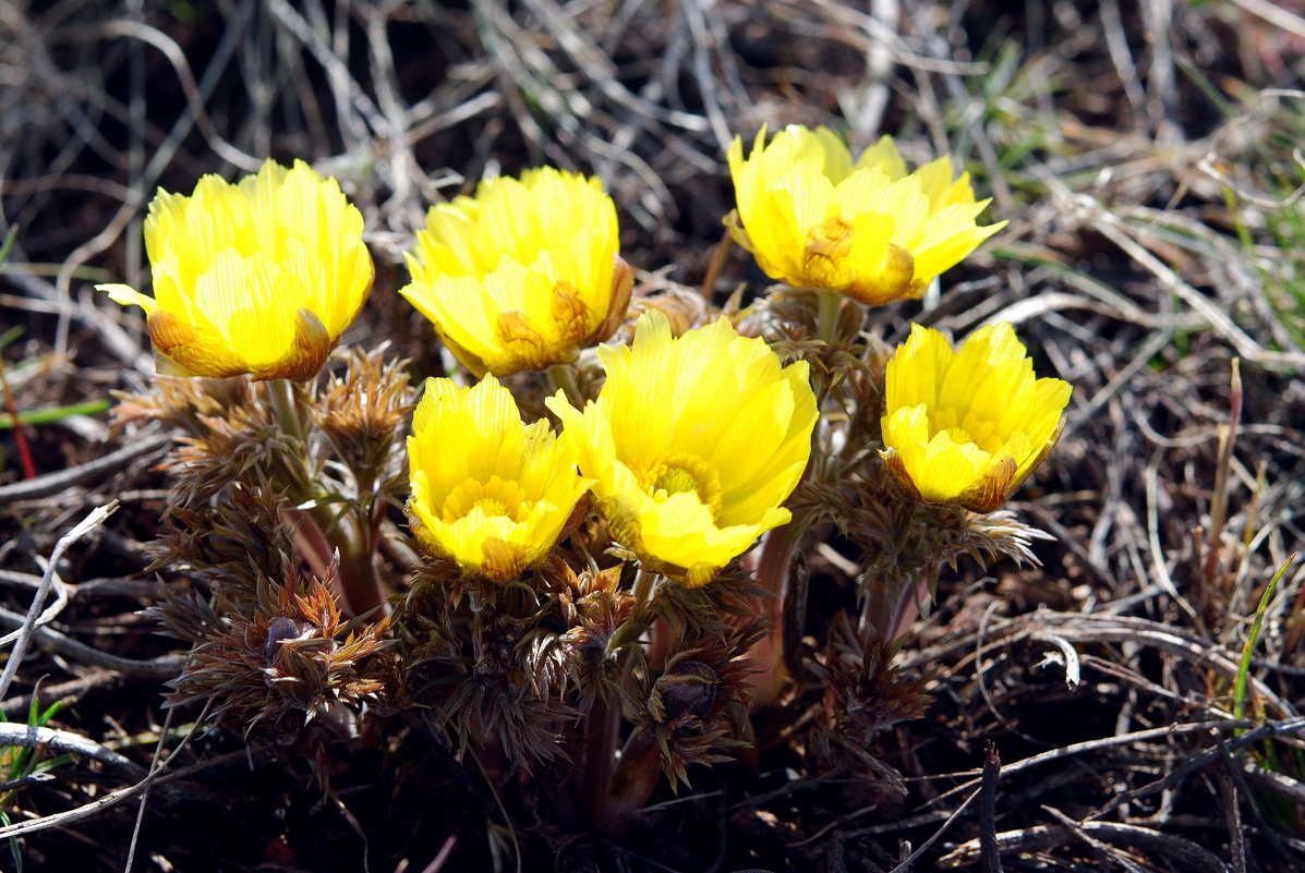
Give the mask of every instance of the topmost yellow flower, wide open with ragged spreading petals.
[[773, 279], [878, 305], [919, 298], [1006, 222], [979, 227], [970, 175], [947, 155], [908, 174], [891, 137], [857, 161], [829, 128], [790, 125], [744, 159], [729, 146], [739, 209], [726, 219]]

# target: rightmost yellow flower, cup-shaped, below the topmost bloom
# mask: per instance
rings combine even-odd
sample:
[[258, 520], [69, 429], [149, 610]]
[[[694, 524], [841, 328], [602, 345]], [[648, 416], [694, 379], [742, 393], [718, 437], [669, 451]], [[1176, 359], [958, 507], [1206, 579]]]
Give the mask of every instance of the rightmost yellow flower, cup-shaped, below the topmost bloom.
[[992, 512], [1056, 445], [1070, 390], [1035, 378], [1006, 322], [976, 330], [959, 351], [912, 325], [887, 365], [881, 455], [919, 498]]

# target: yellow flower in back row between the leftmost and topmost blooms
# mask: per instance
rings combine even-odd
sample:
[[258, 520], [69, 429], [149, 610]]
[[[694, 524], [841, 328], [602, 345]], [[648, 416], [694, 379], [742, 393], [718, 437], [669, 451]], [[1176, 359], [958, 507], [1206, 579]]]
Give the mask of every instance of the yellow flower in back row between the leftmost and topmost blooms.
[[471, 372], [506, 376], [576, 359], [612, 334], [633, 274], [596, 177], [527, 170], [437, 204], [399, 294]]

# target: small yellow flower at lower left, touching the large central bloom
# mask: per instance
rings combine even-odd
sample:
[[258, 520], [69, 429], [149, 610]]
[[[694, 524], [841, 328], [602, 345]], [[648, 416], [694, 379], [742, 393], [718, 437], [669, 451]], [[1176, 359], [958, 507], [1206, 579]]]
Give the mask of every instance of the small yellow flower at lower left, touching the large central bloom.
[[523, 424], [493, 376], [474, 388], [425, 380], [407, 441], [408, 519], [422, 547], [468, 575], [514, 579], [548, 557], [589, 491], [569, 442]]

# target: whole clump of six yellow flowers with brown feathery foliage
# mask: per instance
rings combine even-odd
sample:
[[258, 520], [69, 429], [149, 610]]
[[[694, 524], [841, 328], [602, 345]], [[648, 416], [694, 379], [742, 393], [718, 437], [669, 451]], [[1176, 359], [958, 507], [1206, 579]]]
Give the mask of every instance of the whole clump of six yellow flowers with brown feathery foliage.
[[[317, 756], [347, 719], [416, 705], [521, 767], [574, 761], [579, 808], [613, 827], [745, 745], [786, 663], [814, 677], [820, 748], [921, 711], [891, 641], [959, 555], [1031, 559], [997, 510], [1070, 386], [1007, 324], [958, 348], [914, 325], [895, 354], [863, 330], [1005, 226], [976, 223], [988, 201], [949, 157], [908, 171], [889, 137], [853, 159], [788, 127], [728, 162], [727, 226], [791, 286], [741, 312], [638, 294], [598, 179], [544, 167], [432, 206], [399, 294], [466, 372], [419, 402], [384, 346], [318, 378], [373, 277], [334, 180], [269, 161], [161, 191], [154, 296], [100, 287], [146, 312], [162, 375], [252, 377], [161, 380], [119, 408], [184, 432], [161, 561], [209, 596], [159, 609], [193, 645], [174, 699], [217, 696]], [[827, 521], [861, 545], [865, 596], [821, 660], [786, 579]]]

